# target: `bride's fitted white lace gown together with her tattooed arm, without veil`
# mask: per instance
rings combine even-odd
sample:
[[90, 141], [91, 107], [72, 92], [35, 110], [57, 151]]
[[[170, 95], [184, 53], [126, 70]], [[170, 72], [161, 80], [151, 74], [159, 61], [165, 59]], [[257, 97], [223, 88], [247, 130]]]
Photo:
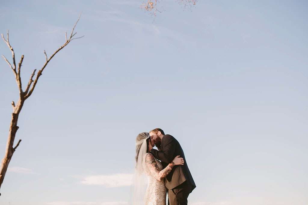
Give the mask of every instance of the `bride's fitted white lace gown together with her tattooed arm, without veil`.
[[[151, 158], [152, 162], [149, 163], [146, 157]], [[148, 177], [148, 187], [144, 197], [145, 205], [166, 205], [167, 188], [164, 184], [164, 178], [171, 171], [173, 165], [169, 164], [163, 170], [161, 162], [150, 153], [147, 153], [143, 160], [147, 161], [144, 164], [144, 172]]]

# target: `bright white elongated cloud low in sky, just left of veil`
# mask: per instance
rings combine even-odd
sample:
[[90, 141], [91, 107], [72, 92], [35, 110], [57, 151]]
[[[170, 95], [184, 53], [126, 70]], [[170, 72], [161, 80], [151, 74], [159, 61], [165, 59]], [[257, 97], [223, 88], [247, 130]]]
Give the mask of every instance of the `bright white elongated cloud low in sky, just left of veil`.
[[90, 175], [81, 183], [87, 185], [103, 185], [106, 187], [126, 187], [132, 185], [133, 174]]

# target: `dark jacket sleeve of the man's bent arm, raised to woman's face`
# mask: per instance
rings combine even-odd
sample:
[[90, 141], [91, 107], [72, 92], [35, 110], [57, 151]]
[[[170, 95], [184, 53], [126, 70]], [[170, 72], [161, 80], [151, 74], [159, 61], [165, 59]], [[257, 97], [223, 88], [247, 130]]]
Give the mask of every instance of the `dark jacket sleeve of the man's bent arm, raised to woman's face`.
[[151, 149], [151, 153], [156, 159], [164, 163], [170, 163], [174, 159], [173, 156], [176, 144], [172, 136], [164, 136], [164, 137], [166, 137], [166, 139], [164, 139], [164, 150], [160, 152], [156, 149]]

